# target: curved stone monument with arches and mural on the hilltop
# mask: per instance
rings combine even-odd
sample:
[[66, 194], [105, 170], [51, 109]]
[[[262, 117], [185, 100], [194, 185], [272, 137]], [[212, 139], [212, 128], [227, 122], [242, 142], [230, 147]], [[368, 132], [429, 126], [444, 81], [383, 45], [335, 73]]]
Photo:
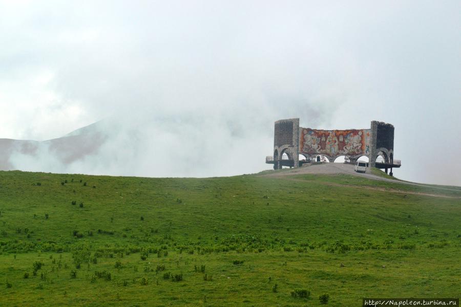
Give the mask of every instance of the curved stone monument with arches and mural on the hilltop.
[[322, 155], [330, 162], [346, 156], [351, 163], [367, 156], [374, 167], [376, 157], [381, 154], [385, 163], [392, 163], [393, 147], [391, 124], [372, 121], [369, 129], [326, 130], [300, 127], [299, 118], [282, 119], [275, 122], [273, 163], [275, 169], [281, 168], [283, 153], [287, 153], [295, 167], [299, 166], [299, 155], [306, 158]]

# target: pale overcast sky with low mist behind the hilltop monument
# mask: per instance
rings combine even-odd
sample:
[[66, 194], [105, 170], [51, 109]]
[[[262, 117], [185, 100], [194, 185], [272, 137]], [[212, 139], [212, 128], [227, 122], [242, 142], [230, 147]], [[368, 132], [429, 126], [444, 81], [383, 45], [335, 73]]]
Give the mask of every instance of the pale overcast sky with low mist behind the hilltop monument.
[[0, 1], [0, 138], [110, 119], [100, 155], [51, 170], [227, 176], [270, 168], [278, 119], [379, 120], [395, 126], [395, 176], [461, 185], [459, 12], [459, 1]]

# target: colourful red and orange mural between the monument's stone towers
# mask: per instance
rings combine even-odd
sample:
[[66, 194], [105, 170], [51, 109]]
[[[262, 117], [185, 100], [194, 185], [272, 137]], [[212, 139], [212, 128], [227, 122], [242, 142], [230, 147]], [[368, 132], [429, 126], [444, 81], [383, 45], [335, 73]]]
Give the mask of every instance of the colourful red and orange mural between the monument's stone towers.
[[315, 130], [301, 128], [300, 152], [308, 155], [323, 153], [329, 157], [368, 155], [370, 129]]

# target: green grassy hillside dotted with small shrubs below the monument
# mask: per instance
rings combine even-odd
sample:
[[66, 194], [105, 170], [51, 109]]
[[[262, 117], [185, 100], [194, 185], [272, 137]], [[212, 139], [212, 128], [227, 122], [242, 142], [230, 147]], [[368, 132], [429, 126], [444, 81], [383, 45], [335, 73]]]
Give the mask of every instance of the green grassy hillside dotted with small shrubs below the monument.
[[0, 305], [459, 297], [460, 252], [457, 188], [0, 172]]

